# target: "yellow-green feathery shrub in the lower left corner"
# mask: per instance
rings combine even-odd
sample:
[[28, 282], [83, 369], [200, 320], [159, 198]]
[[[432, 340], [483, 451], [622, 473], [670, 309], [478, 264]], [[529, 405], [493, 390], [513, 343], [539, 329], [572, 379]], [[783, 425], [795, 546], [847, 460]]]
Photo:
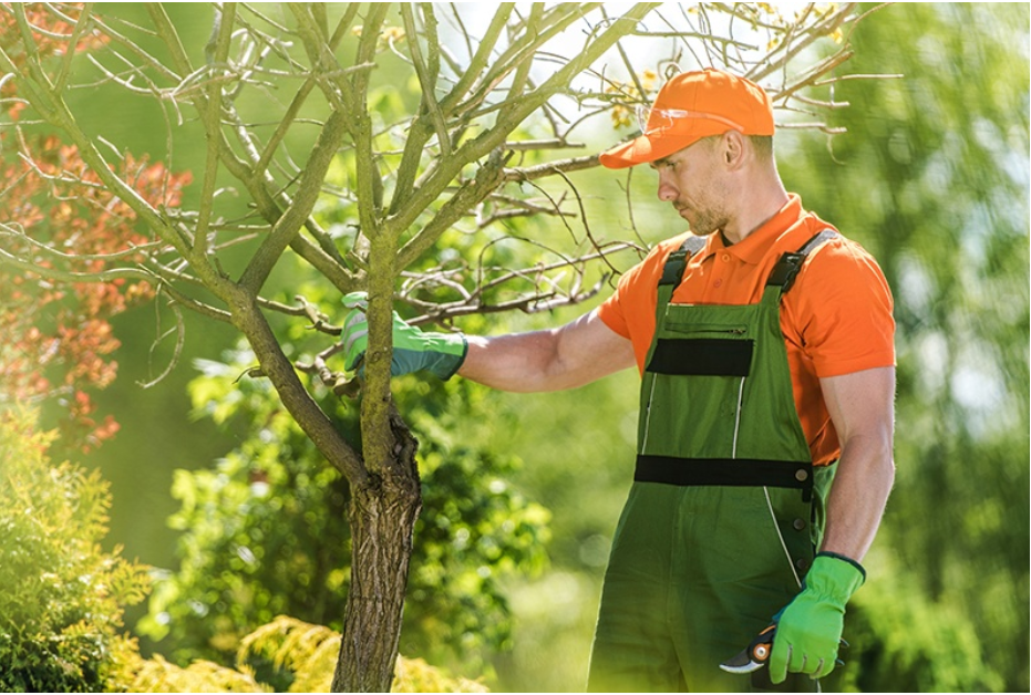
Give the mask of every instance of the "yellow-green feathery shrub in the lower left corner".
[[34, 413], [0, 414], [0, 691], [117, 688], [123, 606], [143, 600], [146, 570], [101, 550], [107, 486], [53, 464], [52, 439]]

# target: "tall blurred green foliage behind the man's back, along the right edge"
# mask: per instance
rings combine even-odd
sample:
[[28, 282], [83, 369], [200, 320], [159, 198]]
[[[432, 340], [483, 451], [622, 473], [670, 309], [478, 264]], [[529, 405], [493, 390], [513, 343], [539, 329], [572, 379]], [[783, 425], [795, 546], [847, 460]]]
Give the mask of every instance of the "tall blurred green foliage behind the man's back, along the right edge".
[[[1029, 687], [1028, 21], [1027, 6], [999, 3], [874, 13], [850, 38], [853, 70], [905, 77], [842, 86], [836, 163], [822, 138], [781, 156], [895, 292], [898, 475], [878, 544], [910, 580], [878, 613], [913, 622], [870, 614], [868, 629], [877, 663], [903, 667], [917, 646], [895, 631], [922, 632], [918, 609], [947, 605], [942, 639], [977, 635], [983, 660], [973, 680], [913, 666], [921, 688]], [[872, 569], [872, 584], [897, 581]]]

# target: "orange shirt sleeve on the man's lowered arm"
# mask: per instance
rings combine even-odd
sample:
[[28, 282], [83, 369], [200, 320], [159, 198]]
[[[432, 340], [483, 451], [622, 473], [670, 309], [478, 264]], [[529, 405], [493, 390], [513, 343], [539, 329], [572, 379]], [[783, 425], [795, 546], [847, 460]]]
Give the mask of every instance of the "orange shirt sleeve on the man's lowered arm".
[[858, 243], [836, 239], [806, 266], [796, 288], [804, 291], [786, 299], [816, 375], [894, 366], [894, 301], [877, 261]]

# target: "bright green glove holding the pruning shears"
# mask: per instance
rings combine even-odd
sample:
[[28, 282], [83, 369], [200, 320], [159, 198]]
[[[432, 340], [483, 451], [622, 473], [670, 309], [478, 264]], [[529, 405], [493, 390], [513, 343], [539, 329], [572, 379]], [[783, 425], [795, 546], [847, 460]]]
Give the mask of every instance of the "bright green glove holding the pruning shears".
[[834, 671], [842, 640], [845, 604], [863, 585], [866, 571], [844, 556], [817, 553], [802, 591], [780, 612], [770, 680], [783, 683], [787, 673], [822, 678]]

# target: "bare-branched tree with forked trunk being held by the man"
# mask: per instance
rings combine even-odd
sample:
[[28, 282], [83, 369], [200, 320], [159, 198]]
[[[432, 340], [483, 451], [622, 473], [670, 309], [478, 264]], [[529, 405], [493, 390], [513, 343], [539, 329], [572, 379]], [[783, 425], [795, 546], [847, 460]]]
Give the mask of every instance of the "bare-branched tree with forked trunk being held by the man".
[[[463, 231], [489, 248], [516, 217], [567, 220], [569, 212], [539, 181], [597, 159], [547, 153], [574, 146], [571, 138], [594, 115], [608, 113], [625, 127], [635, 107], [647, 104], [648, 82], [661, 70], [646, 68], [659, 59], [635, 64], [631, 40], [639, 50], [640, 41], [669, 49], [664, 63], [745, 74], [763, 82], [781, 108], [818, 120], [839, 104], [814, 94], [837, 81], [834, 71], [850, 55], [845, 39], [862, 19], [850, 4], [806, 6], [783, 18], [765, 4], [640, 3], [609, 17], [601, 3], [525, 10], [506, 3], [487, 17], [430, 3], [298, 3], [269, 17], [226, 3], [215, 6], [210, 39], [198, 46], [182, 42], [172, 10], [162, 4], [147, 6], [137, 22], [102, 18], [92, 6], [0, 11], [17, 28], [13, 42], [0, 49], [0, 71], [10, 75], [4, 82], [17, 89], [6, 103], [20, 117], [58, 128], [86, 165], [48, 176], [103, 188], [133, 211], [147, 236], [145, 245], [94, 255], [94, 268], [72, 270], [79, 257], [37, 238], [7, 210], [0, 262], [51, 280], [147, 282], [173, 312], [196, 311], [246, 338], [257, 361], [250, 375], [269, 380], [349, 484], [352, 574], [333, 682], [347, 691], [390, 685], [420, 509], [416, 442], [391, 397], [394, 302], [415, 321], [445, 324], [468, 313], [571, 303], [600, 287], [585, 289], [587, 263], [628, 245], [596, 239], [581, 219], [582, 236], [569, 235], [571, 249], [530, 268], [477, 267], [470, 258], [434, 259], [432, 251]], [[65, 28], [47, 29], [48, 20]], [[73, 50], [40, 52], [40, 37], [65, 46], [84, 37], [103, 41], [82, 59]], [[828, 58], [806, 62], [806, 49], [821, 40], [841, 43]], [[405, 91], [409, 81], [417, 98]], [[169, 199], [171, 180], [163, 200], [142, 196], [123, 174], [124, 147], [76, 118], [70, 90], [96, 84], [156, 101], [169, 169], [177, 167], [174, 154], [188, 138], [189, 120], [198, 121], [206, 147], [189, 204]], [[8, 127], [18, 134], [28, 125], [9, 118]], [[313, 137], [305, 136], [309, 128]], [[12, 139], [20, 156], [41, 168], [39, 152]], [[346, 184], [326, 190], [334, 169]], [[234, 194], [247, 201], [243, 214]], [[338, 226], [324, 228], [312, 216], [324, 196], [339, 210]], [[341, 293], [369, 293], [360, 446], [341, 435], [301, 378], [312, 372], [336, 391], [352, 390], [324, 365], [336, 348], [291, 362], [277, 334], [281, 317], [337, 333], [329, 305], [305, 298], [287, 305], [265, 295], [285, 255]]]

